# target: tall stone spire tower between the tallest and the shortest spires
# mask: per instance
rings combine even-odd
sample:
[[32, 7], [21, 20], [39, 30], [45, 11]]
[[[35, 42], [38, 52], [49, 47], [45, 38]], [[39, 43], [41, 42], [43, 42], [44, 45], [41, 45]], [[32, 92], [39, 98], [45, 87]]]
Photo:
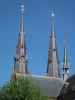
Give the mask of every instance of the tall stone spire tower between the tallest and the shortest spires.
[[55, 35], [55, 14], [51, 14], [51, 35], [48, 50], [48, 65], [47, 65], [47, 76], [49, 77], [60, 77], [59, 72], [59, 60], [56, 45], [56, 35]]

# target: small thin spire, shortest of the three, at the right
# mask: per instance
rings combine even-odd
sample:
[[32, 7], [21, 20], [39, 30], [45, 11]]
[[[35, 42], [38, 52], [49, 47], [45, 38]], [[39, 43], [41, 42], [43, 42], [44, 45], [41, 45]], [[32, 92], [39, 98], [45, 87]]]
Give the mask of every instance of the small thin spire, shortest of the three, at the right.
[[66, 81], [69, 77], [69, 62], [68, 62], [68, 56], [67, 56], [67, 47], [66, 47], [66, 40], [64, 44], [64, 64], [63, 64], [63, 80]]

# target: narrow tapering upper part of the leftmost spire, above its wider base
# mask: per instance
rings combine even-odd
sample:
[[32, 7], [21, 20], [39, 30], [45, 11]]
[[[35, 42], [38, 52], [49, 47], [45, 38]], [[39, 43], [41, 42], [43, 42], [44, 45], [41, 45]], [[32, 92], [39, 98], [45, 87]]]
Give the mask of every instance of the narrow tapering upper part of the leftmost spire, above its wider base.
[[21, 4], [20, 6], [20, 29], [19, 29], [19, 38], [18, 44], [16, 49], [16, 54], [21, 57], [25, 56], [26, 54], [26, 44], [24, 39], [24, 5]]

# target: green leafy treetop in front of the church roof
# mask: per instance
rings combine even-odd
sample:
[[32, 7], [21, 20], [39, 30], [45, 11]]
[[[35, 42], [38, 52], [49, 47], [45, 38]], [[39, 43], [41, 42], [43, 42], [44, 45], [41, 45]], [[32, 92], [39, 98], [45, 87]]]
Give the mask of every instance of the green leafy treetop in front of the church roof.
[[0, 89], [0, 100], [48, 100], [32, 80], [12, 80]]

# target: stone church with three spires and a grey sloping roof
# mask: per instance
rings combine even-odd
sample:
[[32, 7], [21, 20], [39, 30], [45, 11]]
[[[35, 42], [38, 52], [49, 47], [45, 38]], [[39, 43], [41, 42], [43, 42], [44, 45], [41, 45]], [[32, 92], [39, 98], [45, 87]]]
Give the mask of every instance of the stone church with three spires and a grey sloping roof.
[[[59, 55], [56, 42], [56, 32], [55, 32], [55, 14], [51, 14], [51, 32], [50, 32], [50, 41], [48, 49], [48, 63], [47, 63], [47, 75], [41, 78], [34, 77], [29, 73], [28, 70], [28, 54], [26, 48], [26, 36], [24, 31], [24, 4], [21, 4], [20, 11], [20, 25], [19, 25], [19, 36], [18, 43], [16, 46], [16, 56], [14, 57], [14, 67], [12, 78], [15, 79], [17, 76], [30, 77], [34, 81], [39, 82], [39, 87], [43, 86], [43, 90], [46, 90], [49, 100], [56, 100], [60, 89], [65, 84], [68, 79], [68, 60], [67, 60], [67, 48], [64, 48], [64, 64], [63, 64], [63, 79], [61, 79], [60, 66], [59, 66]], [[37, 83], [38, 83], [37, 82]], [[36, 83], [36, 84], [37, 84]], [[55, 84], [56, 83], [56, 84]], [[47, 85], [47, 86], [46, 86]], [[49, 86], [51, 85], [51, 86]], [[55, 88], [54, 88], [55, 87]], [[53, 92], [52, 92], [53, 91]]]

